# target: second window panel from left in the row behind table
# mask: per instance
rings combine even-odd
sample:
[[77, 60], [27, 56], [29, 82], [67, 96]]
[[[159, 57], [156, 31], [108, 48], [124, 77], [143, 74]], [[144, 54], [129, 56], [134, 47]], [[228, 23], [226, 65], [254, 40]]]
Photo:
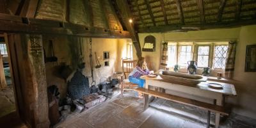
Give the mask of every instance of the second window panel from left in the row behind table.
[[188, 61], [192, 60], [192, 46], [180, 46], [178, 65], [182, 67], [188, 66]]

